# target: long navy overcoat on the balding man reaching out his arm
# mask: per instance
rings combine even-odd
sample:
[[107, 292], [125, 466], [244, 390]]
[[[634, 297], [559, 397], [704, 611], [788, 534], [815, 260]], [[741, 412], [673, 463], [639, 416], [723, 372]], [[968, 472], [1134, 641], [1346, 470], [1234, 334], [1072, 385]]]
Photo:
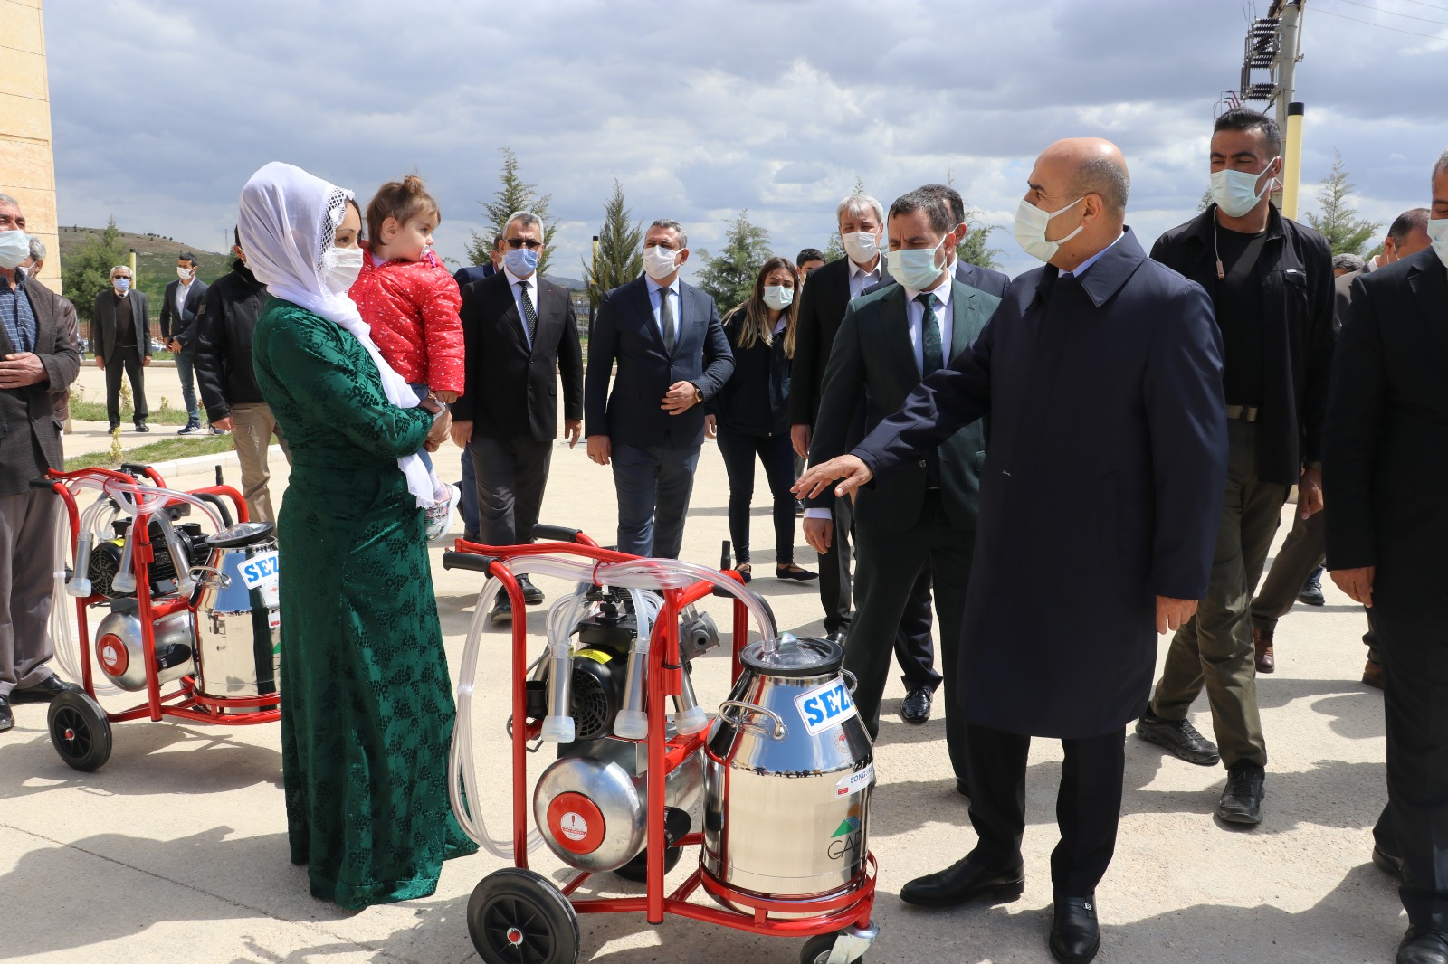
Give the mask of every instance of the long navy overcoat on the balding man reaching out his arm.
[[[1135, 234], [1080, 279], [1011, 284], [970, 350], [922, 381], [854, 450], [912, 472], [990, 417], [966, 593], [966, 719], [1098, 737], [1141, 715], [1156, 596], [1206, 595], [1226, 488], [1222, 339], [1206, 292]], [[862, 496], [863, 498], [863, 496]], [[1043, 605], [1043, 572], [1072, 579]]]

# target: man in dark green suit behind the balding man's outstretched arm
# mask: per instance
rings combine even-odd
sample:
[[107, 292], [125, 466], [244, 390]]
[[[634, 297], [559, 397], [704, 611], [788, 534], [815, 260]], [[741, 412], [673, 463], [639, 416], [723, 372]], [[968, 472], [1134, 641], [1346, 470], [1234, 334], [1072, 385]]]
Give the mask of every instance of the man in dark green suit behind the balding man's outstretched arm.
[[[899, 408], [921, 378], [964, 352], [1001, 303], [946, 274], [946, 252], [956, 245], [957, 224], [944, 198], [925, 190], [911, 191], [891, 206], [889, 265], [899, 284], [850, 303], [844, 313], [825, 371], [809, 446], [812, 463], [847, 452], [862, 397], [866, 428], [875, 428]], [[854, 507], [859, 608], [844, 646], [846, 669], [859, 680], [856, 706], [870, 735], [877, 737], [891, 643], [921, 570], [930, 566], [940, 609], [946, 738], [960, 789], [967, 779], [964, 722], [956, 699], [956, 653], [985, 447], [983, 427], [970, 426], [928, 452], [917, 466], [860, 494]], [[805, 510], [805, 538], [820, 553], [828, 551], [834, 536], [828, 514], [833, 498], [824, 492], [811, 498]], [[812, 512], [820, 517], [811, 518]], [[925, 638], [930, 638], [928, 620]]]

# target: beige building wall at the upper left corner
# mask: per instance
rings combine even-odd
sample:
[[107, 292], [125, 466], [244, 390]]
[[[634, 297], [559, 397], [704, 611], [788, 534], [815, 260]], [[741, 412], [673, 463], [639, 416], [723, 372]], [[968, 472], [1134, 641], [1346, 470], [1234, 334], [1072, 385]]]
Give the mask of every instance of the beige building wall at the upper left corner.
[[61, 289], [61, 242], [55, 234], [55, 152], [51, 85], [45, 72], [42, 0], [0, 0], [0, 194], [20, 201], [26, 230], [48, 249], [41, 281]]

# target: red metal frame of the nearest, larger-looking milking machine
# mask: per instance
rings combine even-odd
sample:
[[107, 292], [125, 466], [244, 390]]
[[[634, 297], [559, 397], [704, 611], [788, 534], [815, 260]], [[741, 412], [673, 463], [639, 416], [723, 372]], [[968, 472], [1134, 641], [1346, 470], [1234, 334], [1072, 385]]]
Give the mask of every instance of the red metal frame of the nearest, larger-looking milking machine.
[[[576, 543], [533, 543], [527, 546], [484, 546], [459, 538], [455, 549], [460, 553], [487, 556], [492, 559], [488, 573], [502, 583], [514, 612], [524, 611], [523, 592], [517, 579], [505, 565], [508, 559], [523, 559], [542, 554], [572, 554], [592, 559], [599, 563], [618, 563], [639, 559], [627, 553], [601, 549], [588, 536], [578, 533]], [[727, 576], [743, 582], [737, 572], [728, 570]], [[643, 897], [589, 897], [573, 899], [573, 892], [592, 874], [581, 871], [571, 877], [560, 889], [573, 905], [578, 913], [644, 913], [649, 923], [663, 923], [663, 916], [672, 913], [681, 918], [717, 923], [750, 934], [766, 934], [776, 936], [814, 936], [830, 934], [849, 925], [860, 928], [870, 926], [870, 910], [875, 905], [876, 861], [873, 854], [866, 854], [866, 868], [844, 889], [835, 895], [828, 895], [817, 900], [766, 900], [754, 895], [736, 892], [725, 884], [712, 880], [698, 867], [672, 893], [665, 893], [663, 858], [668, 850], [663, 835], [665, 812], [665, 780], [668, 774], [681, 766], [689, 754], [701, 748], [707, 740], [705, 732], [689, 737], [666, 738], [665, 714], [654, 712], [665, 705], [666, 696], [678, 696], [682, 688], [682, 667], [679, 661], [679, 612], [683, 606], [698, 602], [711, 595], [714, 586], [707, 582], [696, 582], [686, 589], [665, 589], [663, 608], [654, 621], [653, 637], [649, 643], [649, 672], [646, 688], [646, 705], [649, 708], [649, 737], [644, 741], [649, 757], [647, 779], [647, 868]], [[741, 670], [738, 654], [749, 641], [749, 608], [743, 601], [734, 599], [734, 638], [733, 638], [733, 673], [731, 680], [737, 680]], [[513, 620], [513, 853], [514, 863], [527, 868], [527, 837], [531, 808], [527, 802], [527, 744], [539, 735], [542, 724], [533, 722], [518, 725], [517, 721], [527, 718], [524, 701], [524, 680], [527, 677], [527, 621]], [[689, 834], [679, 847], [702, 845], [702, 834]], [[717, 899], [730, 900], [753, 908], [752, 913], [731, 910], [728, 908], [714, 908], [701, 903], [691, 903], [689, 897], [704, 887], [707, 893]], [[772, 916], [788, 913], [789, 918]], [[811, 916], [796, 916], [807, 913]]]

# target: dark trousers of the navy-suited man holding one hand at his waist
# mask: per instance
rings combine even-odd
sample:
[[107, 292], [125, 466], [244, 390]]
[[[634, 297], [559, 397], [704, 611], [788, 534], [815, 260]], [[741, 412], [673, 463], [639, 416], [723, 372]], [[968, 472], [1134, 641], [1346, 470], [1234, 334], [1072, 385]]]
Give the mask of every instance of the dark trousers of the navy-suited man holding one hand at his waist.
[[678, 559], [701, 446], [614, 446], [618, 551]]

